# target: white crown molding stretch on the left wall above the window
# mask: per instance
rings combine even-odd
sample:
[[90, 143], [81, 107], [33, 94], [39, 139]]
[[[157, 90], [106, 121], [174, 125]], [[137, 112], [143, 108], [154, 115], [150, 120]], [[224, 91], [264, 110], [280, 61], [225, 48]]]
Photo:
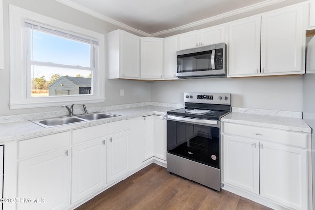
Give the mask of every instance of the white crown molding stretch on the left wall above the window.
[[133, 31], [133, 32], [135, 32], [135, 33], [137, 33], [139, 35], [148, 36], [148, 37], [150, 36], [149, 33], [143, 32], [142, 30], [137, 30], [137, 29], [135, 29], [133, 27], [130, 27], [130, 26], [124, 24], [124, 23], [116, 21], [116, 20], [114, 20], [112, 18], [109, 18], [109, 17], [107, 17], [105, 15], [102, 15], [100, 13], [97, 13], [97, 12], [91, 10], [91, 9], [88, 9], [88, 8], [86, 8], [84, 6], [81, 6], [81, 5], [77, 4], [77, 3], [74, 3], [74, 2], [72, 2], [70, 0], [55, 0], [55, 1], [57, 1], [59, 3], [62, 3], [64, 5], [67, 5], [67, 6], [71, 7], [71, 8], [73, 8], [73, 9], [76, 9], [76, 10], [79, 10], [81, 12], [84, 12], [86, 14], [89, 14], [91, 16], [94, 16], [94, 17], [96, 17], [98, 19], [101, 19], [103, 21], [106, 21], [108, 23], [114, 24], [114, 25], [116, 25], [118, 27], [124, 28], [126, 30]]

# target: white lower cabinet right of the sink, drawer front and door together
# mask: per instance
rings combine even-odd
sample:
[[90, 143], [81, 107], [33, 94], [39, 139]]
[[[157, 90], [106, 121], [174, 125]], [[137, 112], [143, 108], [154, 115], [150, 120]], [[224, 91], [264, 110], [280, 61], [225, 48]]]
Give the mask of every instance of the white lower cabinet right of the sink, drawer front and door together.
[[107, 183], [130, 172], [130, 120], [107, 125]]

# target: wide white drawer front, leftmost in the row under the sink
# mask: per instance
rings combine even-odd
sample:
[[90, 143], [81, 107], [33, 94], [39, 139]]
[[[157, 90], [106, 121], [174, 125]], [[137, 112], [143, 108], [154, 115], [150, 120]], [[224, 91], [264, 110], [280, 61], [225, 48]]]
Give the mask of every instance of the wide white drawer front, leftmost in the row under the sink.
[[18, 142], [18, 158], [49, 152], [70, 146], [70, 131], [36, 137]]

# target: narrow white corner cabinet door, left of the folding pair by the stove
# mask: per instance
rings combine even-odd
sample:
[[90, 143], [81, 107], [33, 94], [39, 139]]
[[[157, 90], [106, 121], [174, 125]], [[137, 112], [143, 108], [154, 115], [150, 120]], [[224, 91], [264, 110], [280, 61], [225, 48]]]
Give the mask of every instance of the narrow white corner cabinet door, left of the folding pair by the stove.
[[153, 157], [154, 154], [154, 117], [142, 117], [142, 162]]

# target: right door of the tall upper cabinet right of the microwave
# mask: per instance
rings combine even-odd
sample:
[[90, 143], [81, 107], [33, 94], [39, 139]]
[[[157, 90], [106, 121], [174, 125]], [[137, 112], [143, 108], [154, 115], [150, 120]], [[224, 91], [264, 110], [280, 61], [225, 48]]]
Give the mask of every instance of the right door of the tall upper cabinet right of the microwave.
[[302, 73], [302, 51], [305, 45], [302, 9], [302, 5], [299, 5], [262, 16], [262, 73]]

